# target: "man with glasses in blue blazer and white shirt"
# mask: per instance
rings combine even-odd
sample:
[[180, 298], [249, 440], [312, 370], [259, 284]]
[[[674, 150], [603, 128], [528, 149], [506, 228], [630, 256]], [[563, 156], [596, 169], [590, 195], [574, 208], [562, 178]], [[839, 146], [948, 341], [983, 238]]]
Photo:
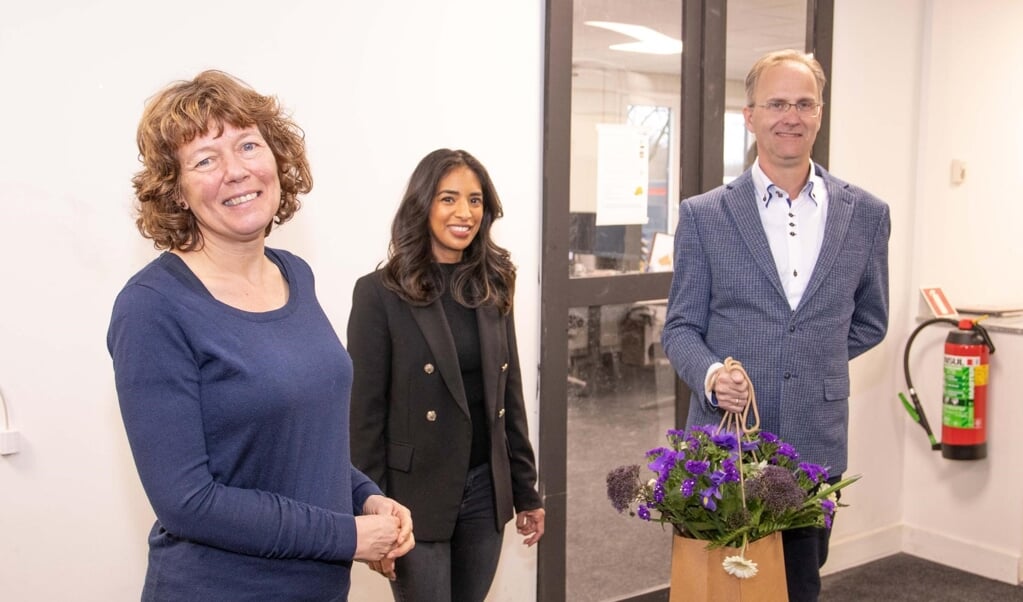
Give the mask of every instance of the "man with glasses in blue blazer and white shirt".
[[[741, 413], [756, 390], [760, 427], [800, 460], [846, 470], [849, 360], [888, 329], [888, 206], [810, 159], [826, 78], [808, 54], [762, 56], [746, 77], [757, 159], [739, 178], [683, 201], [662, 343], [693, 390], [687, 426]], [[829, 530], [783, 532], [789, 598], [817, 599]]]

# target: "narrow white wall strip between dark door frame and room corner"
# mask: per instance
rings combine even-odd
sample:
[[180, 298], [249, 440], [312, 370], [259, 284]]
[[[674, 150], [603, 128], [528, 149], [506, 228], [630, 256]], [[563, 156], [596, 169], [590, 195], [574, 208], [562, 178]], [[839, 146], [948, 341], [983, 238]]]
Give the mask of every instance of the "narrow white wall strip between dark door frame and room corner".
[[[851, 364], [848, 474], [862, 478], [843, 492], [833, 550], [834, 572], [898, 552], [904, 416], [895, 392], [916, 211], [916, 145], [921, 19], [924, 1], [838, 0], [832, 63], [830, 170], [883, 199], [892, 215], [889, 241], [891, 315], [885, 341]], [[870, 51], [864, 37], [870, 39]]]

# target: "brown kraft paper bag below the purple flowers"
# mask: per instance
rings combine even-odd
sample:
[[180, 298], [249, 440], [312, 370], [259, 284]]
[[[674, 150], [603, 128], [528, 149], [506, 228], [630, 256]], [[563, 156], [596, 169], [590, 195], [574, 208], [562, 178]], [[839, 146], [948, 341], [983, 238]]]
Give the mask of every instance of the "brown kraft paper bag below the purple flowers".
[[773, 532], [746, 548], [746, 558], [757, 563], [757, 574], [739, 578], [721, 567], [738, 548], [707, 549], [707, 542], [674, 536], [671, 549], [669, 602], [788, 602], [782, 533]]

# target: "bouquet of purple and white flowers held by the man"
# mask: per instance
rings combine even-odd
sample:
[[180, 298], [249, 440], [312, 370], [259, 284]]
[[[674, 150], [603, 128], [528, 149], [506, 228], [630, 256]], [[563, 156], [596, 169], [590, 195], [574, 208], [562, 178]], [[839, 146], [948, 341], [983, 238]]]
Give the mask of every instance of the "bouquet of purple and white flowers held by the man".
[[[619, 513], [669, 523], [678, 535], [706, 540], [709, 548], [745, 552], [774, 531], [830, 528], [837, 491], [859, 478], [829, 484], [824, 467], [801, 462], [791, 444], [764, 431], [706, 425], [670, 429], [667, 438], [667, 446], [647, 453], [653, 478], [641, 479], [639, 465], [619, 467], [608, 474], [608, 498]], [[724, 569], [740, 577], [756, 574], [743, 553], [725, 559]]]

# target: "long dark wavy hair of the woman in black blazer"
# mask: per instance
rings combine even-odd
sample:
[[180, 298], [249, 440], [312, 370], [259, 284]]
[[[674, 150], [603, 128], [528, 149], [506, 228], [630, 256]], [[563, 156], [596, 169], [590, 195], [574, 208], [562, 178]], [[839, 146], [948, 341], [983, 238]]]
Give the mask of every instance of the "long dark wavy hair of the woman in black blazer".
[[464, 150], [438, 148], [415, 166], [391, 224], [384, 286], [413, 305], [429, 305], [443, 294], [444, 275], [434, 259], [430, 209], [441, 179], [456, 167], [468, 167], [480, 179], [483, 221], [451, 275], [451, 296], [466, 307], [494, 305], [507, 313], [515, 297], [515, 265], [507, 250], [490, 238], [490, 226], [504, 211], [487, 169]]

